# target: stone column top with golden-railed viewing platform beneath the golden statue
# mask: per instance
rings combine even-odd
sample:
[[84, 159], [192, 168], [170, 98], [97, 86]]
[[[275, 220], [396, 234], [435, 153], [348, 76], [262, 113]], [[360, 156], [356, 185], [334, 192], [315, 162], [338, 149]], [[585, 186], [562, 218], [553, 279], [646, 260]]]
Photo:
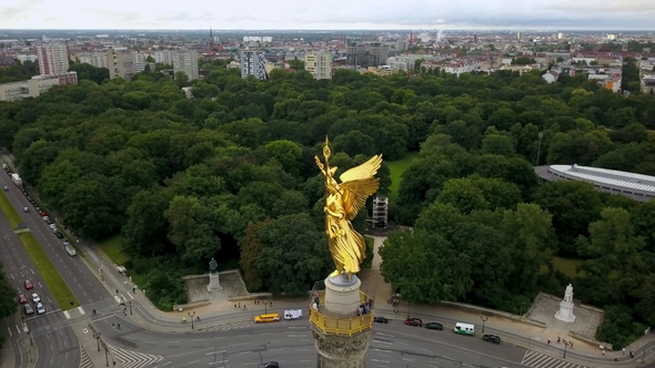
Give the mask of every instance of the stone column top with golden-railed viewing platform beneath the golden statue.
[[360, 285], [354, 275], [350, 280], [342, 276], [325, 279], [319, 318], [311, 318], [310, 324], [316, 341], [316, 368], [366, 367], [373, 314], [357, 315], [364, 301]]

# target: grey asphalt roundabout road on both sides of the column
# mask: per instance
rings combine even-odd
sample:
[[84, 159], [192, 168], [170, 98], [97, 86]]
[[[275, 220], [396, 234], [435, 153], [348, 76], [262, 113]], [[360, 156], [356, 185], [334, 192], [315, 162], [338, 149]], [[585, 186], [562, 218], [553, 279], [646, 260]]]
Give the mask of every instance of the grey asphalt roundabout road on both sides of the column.
[[[118, 329], [120, 324], [120, 330]], [[123, 317], [97, 317], [94, 325], [123, 367], [252, 367], [275, 360], [283, 367], [315, 367], [316, 351], [308, 320], [215, 326], [190, 334], [145, 330]], [[522, 367], [525, 349], [484, 343], [450, 330], [375, 325], [367, 354], [370, 367]]]

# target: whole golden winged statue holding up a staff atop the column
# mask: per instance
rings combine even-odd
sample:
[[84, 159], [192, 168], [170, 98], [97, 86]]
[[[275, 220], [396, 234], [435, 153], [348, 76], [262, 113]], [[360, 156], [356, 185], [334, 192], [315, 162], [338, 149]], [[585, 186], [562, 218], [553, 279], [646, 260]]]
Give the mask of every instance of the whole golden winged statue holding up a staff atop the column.
[[334, 178], [336, 166], [330, 167], [332, 155], [328, 137], [323, 146], [325, 164], [315, 156], [316, 165], [325, 176], [325, 233], [330, 244], [330, 253], [334, 259], [336, 269], [331, 277], [347, 274], [350, 279], [353, 274], [360, 272], [360, 264], [366, 257], [366, 242], [355, 232], [351, 221], [366, 204], [366, 198], [373, 195], [380, 186], [380, 178], [374, 177], [382, 164], [382, 155], [375, 155], [365, 163], [347, 170], [339, 177], [341, 184]]

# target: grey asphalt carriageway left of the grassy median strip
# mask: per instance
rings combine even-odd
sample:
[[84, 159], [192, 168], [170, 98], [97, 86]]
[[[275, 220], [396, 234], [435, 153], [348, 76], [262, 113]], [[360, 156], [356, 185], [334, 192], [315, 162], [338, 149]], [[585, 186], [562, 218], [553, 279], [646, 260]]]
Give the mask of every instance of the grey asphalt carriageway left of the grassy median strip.
[[[14, 186], [11, 190], [17, 188]], [[24, 294], [30, 299], [32, 293], [39, 294], [47, 310], [41, 316], [37, 314], [27, 316], [21, 305], [19, 308], [21, 317], [7, 319], [9, 343], [14, 352], [16, 367], [27, 367], [29, 361], [26, 349], [21, 348], [19, 344], [20, 340], [29, 338], [27, 330], [30, 330], [32, 341], [39, 349], [37, 367], [78, 367], [80, 361], [78, 339], [59, 309], [41, 274], [37, 270], [32, 259], [3, 215], [0, 215], [0, 258], [11, 285], [17, 288], [18, 294]], [[34, 285], [32, 290], [24, 289], [26, 279], [29, 279]]]

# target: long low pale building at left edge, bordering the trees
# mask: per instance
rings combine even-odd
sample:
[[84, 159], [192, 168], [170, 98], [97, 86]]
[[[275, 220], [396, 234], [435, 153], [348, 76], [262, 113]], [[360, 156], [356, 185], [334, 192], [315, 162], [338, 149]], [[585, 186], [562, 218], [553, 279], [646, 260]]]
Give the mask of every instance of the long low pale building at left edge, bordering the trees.
[[36, 75], [28, 81], [0, 84], [0, 101], [38, 98], [54, 85], [78, 84], [78, 73]]

